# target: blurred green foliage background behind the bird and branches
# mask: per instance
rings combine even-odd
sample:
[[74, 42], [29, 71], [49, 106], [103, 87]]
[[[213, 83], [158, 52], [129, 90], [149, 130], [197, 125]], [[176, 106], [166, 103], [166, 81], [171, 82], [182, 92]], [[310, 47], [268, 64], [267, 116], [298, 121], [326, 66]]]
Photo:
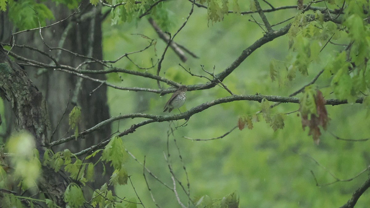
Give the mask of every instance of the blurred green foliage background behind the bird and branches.
[[[166, 5], [169, 10], [176, 13], [172, 19], [174, 25], [182, 24], [191, 7], [185, 1], [182, 3], [168, 2]], [[245, 5], [245, 2], [240, 1], [239, 5], [242, 11], [250, 6], [249, 3]], [[279, 5], [290, 4], [289, 1], [280, 1]], [[305, 14], [314, 13], [308, 11]], [[296, 14], [297, 10], [290, 9], [283, 12], [266, 13], [266, 16], [271, 24], [276, 24]], [[320, 18], [319, 15], [317, 16]], [[257, 14], [253, 14], [253, 17], [259, 19]], [[178, 57], [169, 51], [162, 63], [160, 75], [186, 85], [205, 82], [204, 79], [188, 76], [178, 64], [181, 63], [186, 69], [190, 68], [192, 73], [204, 76], [206, 74], [202, 72], [201, 64], [205, 65], [207, 71], [212, 72], [213, 66], [215, 66], [215, 73], [222, 71], [240, 55], [242, 50], [263, 36], [263, 31], [258, 25], [250, 22], [250, 19], [252, 19], [250, 15], [228, 14], [223, 21], [208, 24], [207, 10], [196, 9], [184, 29], [175, 38], [175, 42], [185, 45], [200, 58], [189, 58], [186, 63], [181, 63]], [[314, 24], [319, 25], [320, 22]], [[319, 28], [314, 24], [313, 27]], [[144, 39], [136, 35], [128, 35], [130, 33], [157, 38], [155, 31], [145, 20], [113, 27], [107, 22], [103, 26], [103, 31], [106, 32], [103, 44], [106, 59], [115, 59], [120, 54], [138, 50], [145, 45]], [[306, 31], [304, 33], [302, 28], [299, 28], [301, 31], [297, 33], [300, 37], [288, 34], [259, 48], [223, 83], [236, 94], [262, 93], [287, 96], [295, 92], [310, 82], [325, 66], [331, 67], [332, 65], [326, 63], [330, 62], [331, 57], [335, 57], [335, 51], [342, 50], [340, 46], [329, 44], [323, 52], [320, 52], [325, 41], [333, 34], [330, 31], [337, 30], [335, 24], [324, 22], [324, 30], [317, 30], [317, 34], [311, 34], [311, 37], [321, 38], [318, 40], [307, 38], [308, 30], [311, 33], [314, 32], [312, 26], [308, 25], [306, 29], [304, 28], [303, 30]], [[173, 34], [176, 30], [177, 27], [171, 27], [166, 31]], [[334, 40], [338, 42], [344, 43], [347, 40], [344, 39], [346, 37], [335, 35]], [[289, 39], [291, 38], [294, 39], [292, 40], [293, 48], [290, 49], [294, 49], [293, 53], [289, 50]], [[303, 48], [301, 50], [298, 47]], [[158, 40], [155, 48], [156, 51], [144, 51], [130, 58], [143, 67], [148, 66], [151, 58], [159, 58], [164, 48], [163, 41]], [[307, 50], [311, 55], [306, 58], [302, 57], [307, 55]], [[307, 62], [302, 62], [305, 59]], [[319, 61], [316, 61], [317, 59]], [[277, 82], [271, 81], [270, 60], [277, 62], [278, 65], [282, 64], [275, 68]], [[289, 69], [290, 65], [298, 67], [300, 74], [292, 72], [295, 69]], [[120, 61], [117, 66], [140, 71], [128, 61]], [[288, 66], [288, 71], [284, 69], [285, 66]], [[155, 69], [148, 71], [155, 73]], [[288, 76], [289, 73], [290, 76]], [[290, 77], [290, 80], [286, 77]], [[113, 81], [112, 77], [109, 79]], [[326, 89], [328, 79], [330, 77], [323, 76], [316, 82], [326, 98], [331, 96], [326, 93], [330, 92], [330, 89]], [[135, 85], [134, 83], [136, 86], [155, 88], [154, 81], [141, 83], [139, 79], [123, 77], [121, 82], [124, 86], [132, 86]], [[162, 114], [161, 109], [169, 96], [158, 97], [151, 93], [124, 92], [115, 89], [109, 89], [108, 92], [112, 115], [142, 110], [137, 108], [138, 103], [148, 106], [144, 110], [145, 113]], [[216, 86], [205, 91], [190, 91], [187, 95], [187, 101], [181, 110], [188, 110], [203, 102], [228, 96], [228, 93]], [[171, 127], [173, 129], [181, 125], [183, 121], [153, 123], [141, 127], [134, 134], [129, 134], [122, 139], [125, 147], [139, 161], [143, 161], [146, 156], [146, 167], [165, 183], [172, 184], [167, 162], [163, 156], [164, 153], [167, 154], [168, 142], [172, 168], [182, 183], [186, 184], [186, 175], [174, 144], [175, 139], [189, 176], [190, 193], [192, 196], [198, 196], [197, 199], [208, 195], [212, 199], [221, 200], [226, 194], [237, 191], [240, 197], [240, 207], [339, 207], [363, 183], [367, 174], [364, 173], [350, 182], [338, 182], [322, 187], [316, 186], [314, 177], [319, 185], [333, 183], [336, 178], [331, 174], [346, 180], [356, 176], [369, 165], [367, 161], [370, 155], [366, 143], [337, 140], [329, 133], [350, 139], [367, 138], [369, 125], [367, 122], [358, 123], [358, 121], [367, 119], [364, 116], [366, 109], [360, 106], [360, 104], [327, 106], [331, 120], [328, 130], [322, 132], [319, 145], [314, 144], [312, 138], [307, 136], [308, 130], [302, 130], [298, 113], [286, 115], [284, 128], [276, 129], [275, 132], [269, 124], [262, 120], [253, 123], [252, 130], [248, 128], [242, 131], [234, 130], [228, 136], [218, 140], [191, 141], [183, 137], [209, 139], [221, 136], [237, 125], [238, 116], [253, 115], [261, 110], [260, 103], [252, 101], [237, 101], [213, 106], [192, 116], [186, 127], [179, 127], [169, 137], [167, 137], [167, 132]], [[271, 109], [273, 111], [271, 113], [288, 113], [298, 109], [297, 104], [283, 103]], [[121, 121], [120, 129], [127, 129], [131, 124], [132, 121]], [[112, 130], [116, 130], [117, 127], [116, 124]], [[135, 161], [129, 161], [127, 170], [129, 175], [132, 175], [136, 190], [147, 191], [148, 188], [141, 177], [142, 167], [138, 166]], [[173, 192], [152, 179], [149, 179], [149, 184], [158, 204], [164, 207], [179, 207], [175, 198], [168, 200], [168, 195], [174, 196]], [[131, 187], [121, 186], [116, 190], [121, 193], [121, 197], [135, 197]], [[182, 199], [186, 198], [184, 194], [180, 196]], [[152, 201], [148, 194], [140, 197], [148, 203]], [[360, 198], [357, 206], [366, 207], [369, 202], [364, 196]]]

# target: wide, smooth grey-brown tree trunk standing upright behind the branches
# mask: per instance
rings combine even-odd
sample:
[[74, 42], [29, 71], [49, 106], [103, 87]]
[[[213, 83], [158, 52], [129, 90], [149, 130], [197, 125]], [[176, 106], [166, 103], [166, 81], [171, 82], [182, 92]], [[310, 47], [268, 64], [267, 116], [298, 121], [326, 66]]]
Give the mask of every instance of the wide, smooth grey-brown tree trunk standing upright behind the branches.
[[[73, 11], [59, 4], [55, 6], [53, 2], [47, 2], [48, 8], [53, 11], [55, 21], [67, 18]], [[101, 6], [94, 7], [88, 1], [84, 1], [80, 6], [80, 12], [68, 18], [66, 21], [55, 24], [50, 28], [40, 32], [27, 32], [15, 35], [14, 40], [17, 45], [28, 45], [38, 48], [57, 59], [61, 65], [77, 67], [82, 62], [87, 61], [84, 57], [76, 56], [70, 52], [59, 49], [50, 50], [48, 47], [64, 48], [75, 54], [102, 59], [102, 35], [101, 35]], [[55, 22], [53, 21], [53, 22]], [[51, 60], [44, 55], [30, 51], [24, 48], [14, 47], [13, 52], [26, 58], [30, 58], [45, 64], [50, 64]], [[100, 64], [83, 65], [87, 69], [102, 70]], [[100, 86], [100, 83], [78, 78], [66, 72], [54, 71], [52, 69], [38, 69], [34, 67], [25, 67], [30, 79], [34, 85], [40, 89], [46, 100], [48, 109], [48, 118], [51, 123], [51, 132], [49, 134], [51, 141], [70, 136], [74, 130], [70, 129], [68, 114], [74, 106], [81, 109], [81, 122], [78, 125], [79, 131], [95, 126], [97, 123], [109, 118], [109, 109], [107, 105], [107, 88]], [[91, 75], [92, 78], [105, 80], [105, 75]], [[10, 106], [5, 106], [10, 108]], [[7, 133], [11, 133], [11, 126], [14, 123], [14, 117], [9, 112], [6, 113]], [[104, 128], [89, 134], [88, 139], [73, 140], [65, 144], [53, 147], [54, 151], [71, 150], [72, 153], [81, 151], [91, 145], [99, 143], [110, 135], [111, 126], [106, 125]], [[49, 142], [49, 141], [47, 141]], [[92, 158], [94, 160], [94, 158]], [[101, 175], [103, 169], [97, 168], [95, 174]], [[100, 186], [109, 182], [110, 167], [107, 167], [105, 178], [99, 178], [101, 181], [95, 185]], [[94, 187], [95, 187], [94, 185]], [[97, 187], [95, 187], [97, 188]]]

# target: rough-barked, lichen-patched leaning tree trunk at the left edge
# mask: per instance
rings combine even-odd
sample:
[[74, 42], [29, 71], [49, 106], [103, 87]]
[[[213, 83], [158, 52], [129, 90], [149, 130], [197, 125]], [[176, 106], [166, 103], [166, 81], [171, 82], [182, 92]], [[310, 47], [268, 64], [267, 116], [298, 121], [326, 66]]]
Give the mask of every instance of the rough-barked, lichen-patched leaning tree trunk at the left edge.
[[[31, 133], [36, 141], [36, 148], [42, 158], [47, 144], [48, 114], [46, 103], [26, 72], [12, 62], [3, 48], [0, 48], [0, 95], [9, 100], [16, 115], [16, 129]], [[43, 166], [43, 175], [39, 183], [40, 191], [46, 198], [64, 207], [63, 193], [69, 184], [61, 171]]]

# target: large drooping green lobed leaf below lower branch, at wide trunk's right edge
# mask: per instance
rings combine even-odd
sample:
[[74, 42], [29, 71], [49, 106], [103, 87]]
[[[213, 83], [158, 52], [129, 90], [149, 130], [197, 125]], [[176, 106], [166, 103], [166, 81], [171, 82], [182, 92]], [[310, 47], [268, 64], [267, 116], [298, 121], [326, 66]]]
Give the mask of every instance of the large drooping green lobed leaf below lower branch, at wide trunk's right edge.
[[111, 161], [111, 166], [116, 170], [120, 169], [128, 161], [129, 155], [125, 151], [120, 137], [115, 136], [111, 139], [105, 146], [101, 158], [105, 161]]

